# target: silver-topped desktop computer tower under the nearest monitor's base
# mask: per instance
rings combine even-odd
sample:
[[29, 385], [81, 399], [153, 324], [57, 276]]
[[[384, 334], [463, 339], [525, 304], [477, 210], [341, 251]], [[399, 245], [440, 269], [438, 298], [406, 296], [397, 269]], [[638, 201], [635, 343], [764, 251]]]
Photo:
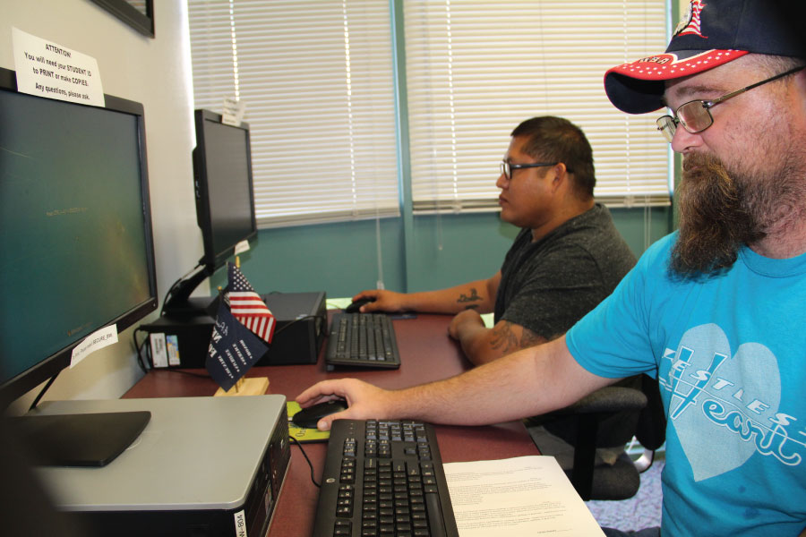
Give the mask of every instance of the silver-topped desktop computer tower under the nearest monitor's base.
[[33, 413], [142, 410], [150, 422], [108, 465], [35, 467], [56, 508], [91, 535], [265, 535], [291, 456], [286, 398], [56, 401]]

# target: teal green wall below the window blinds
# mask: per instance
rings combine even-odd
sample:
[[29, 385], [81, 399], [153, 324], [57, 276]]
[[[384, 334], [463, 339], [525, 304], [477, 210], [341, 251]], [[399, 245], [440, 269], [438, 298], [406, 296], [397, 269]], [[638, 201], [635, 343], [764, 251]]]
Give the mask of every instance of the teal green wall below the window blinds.
[[[611, 209], [616, 227], [637, 256], [672, 230], [671, 208]], [[325, 291], [331, 298], [374, 288], [379, 279], [376, 229], [380, 229], [383, 282], [395, 291], [423, 291], [492, 276], [518, 230], [498, 213], [414, 217], [407, 274], [402, 218], [263, 229], [241, 255], [241, 269], [260, 293]], [[647, 226], [648, 223], [648, 226]], [[219, 270], [210, 286], [226, 285]]]

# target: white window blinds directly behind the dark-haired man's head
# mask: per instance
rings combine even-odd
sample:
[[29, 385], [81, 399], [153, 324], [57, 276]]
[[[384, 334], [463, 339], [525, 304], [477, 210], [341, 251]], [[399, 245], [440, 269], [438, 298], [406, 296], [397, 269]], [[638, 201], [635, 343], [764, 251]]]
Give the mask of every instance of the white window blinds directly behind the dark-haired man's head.
[[665, 49], [665, 2], [404, 3], [415, 210], [497, 209], [510, 132], [535, 115], [578, 124], [594, 149], [596, 198], [668, 204], [657, 114], [618, 111], [604, 72]]

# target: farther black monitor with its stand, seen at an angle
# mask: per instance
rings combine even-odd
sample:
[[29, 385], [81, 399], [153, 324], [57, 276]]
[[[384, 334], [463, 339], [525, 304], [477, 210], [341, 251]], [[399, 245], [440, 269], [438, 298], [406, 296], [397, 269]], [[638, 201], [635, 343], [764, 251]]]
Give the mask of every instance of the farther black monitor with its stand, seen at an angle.
[[195, 111], [194, 121], [193, 185], [204, 255], [200, 268], [170, 291], [163, 311], [174, 316], [203, 313], [205, 302], [193, 303], [190, 294], [224, 265], [238, 243], [257, 234], [249, 124], [223, 124], [221, 115], [203, 109]]

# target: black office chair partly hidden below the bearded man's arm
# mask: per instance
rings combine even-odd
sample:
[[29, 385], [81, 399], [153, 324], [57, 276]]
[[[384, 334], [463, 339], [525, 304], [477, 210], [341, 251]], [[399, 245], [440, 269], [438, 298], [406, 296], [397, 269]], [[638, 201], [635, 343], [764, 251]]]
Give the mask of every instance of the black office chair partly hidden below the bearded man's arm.
[[[598, 389], [574, 405], [529, 418], [527, 426], [532, 425], [558, 436], [565, 431], [562, 438], [574, 446], [573, 457], [557, 460], [582, 499], [628, 499], [639, 490], [639, 473], [652, 464], [655, 450], [665, 442], [666, 418], [657, 380], [640, 375]], [[613, 465], [596, 464], [597, 447], [623, 447], [633, 437], [645, 448], [639, 461], [622, 452]], [[554, 455], [550, 443], [537, 447], [544, 455]]]

